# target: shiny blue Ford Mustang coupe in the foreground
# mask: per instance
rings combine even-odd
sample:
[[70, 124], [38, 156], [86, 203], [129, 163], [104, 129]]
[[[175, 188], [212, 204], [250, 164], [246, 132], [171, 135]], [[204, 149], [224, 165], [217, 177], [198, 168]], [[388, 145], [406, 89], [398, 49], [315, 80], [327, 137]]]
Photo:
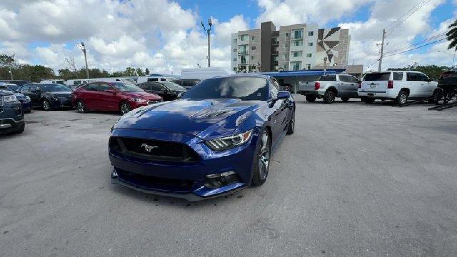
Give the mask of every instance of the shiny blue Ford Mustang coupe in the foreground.
[[279, 88], [266, 75], [215, 77], [128, 112], [111, 131], [112, 182], [189, 201], [262, 185], [294, 132], [294, 99]]

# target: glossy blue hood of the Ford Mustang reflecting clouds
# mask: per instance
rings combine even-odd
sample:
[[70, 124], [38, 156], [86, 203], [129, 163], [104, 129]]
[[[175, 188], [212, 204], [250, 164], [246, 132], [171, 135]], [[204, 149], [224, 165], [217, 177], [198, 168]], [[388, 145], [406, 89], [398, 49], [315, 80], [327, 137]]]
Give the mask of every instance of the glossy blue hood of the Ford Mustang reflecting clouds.
[[113, 129], [150, 129], [200, 138], [230, 135], [260, 101], [239, 99], [176, 100], [141, 107], [122, 116]]

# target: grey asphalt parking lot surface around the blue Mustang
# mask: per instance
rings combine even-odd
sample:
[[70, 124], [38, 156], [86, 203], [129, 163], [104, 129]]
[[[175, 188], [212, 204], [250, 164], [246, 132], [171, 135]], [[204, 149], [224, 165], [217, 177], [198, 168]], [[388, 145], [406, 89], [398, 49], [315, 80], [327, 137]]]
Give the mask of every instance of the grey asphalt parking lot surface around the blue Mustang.
[[0, 137], [1, 256], [457, 256], [457, 108], [297, 99], [262, 187], [189, 203], [110, 183], [115, 113]]

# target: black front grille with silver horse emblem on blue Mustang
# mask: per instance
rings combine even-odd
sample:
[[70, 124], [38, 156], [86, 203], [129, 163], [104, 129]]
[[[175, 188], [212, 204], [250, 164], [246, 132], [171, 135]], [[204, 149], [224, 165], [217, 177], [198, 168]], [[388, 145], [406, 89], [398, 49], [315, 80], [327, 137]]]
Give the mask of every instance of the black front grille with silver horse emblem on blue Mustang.
[[189, 146], [152, 139], [112, 137], [110, 150], [150, 161], [197, 162], [198, 154]]

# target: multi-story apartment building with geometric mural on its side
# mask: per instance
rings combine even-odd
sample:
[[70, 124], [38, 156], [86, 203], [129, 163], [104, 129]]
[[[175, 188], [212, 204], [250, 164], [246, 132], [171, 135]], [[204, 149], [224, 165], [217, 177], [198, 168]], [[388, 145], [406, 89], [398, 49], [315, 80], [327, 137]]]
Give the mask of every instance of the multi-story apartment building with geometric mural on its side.
[[319, 29], [317, 24], [281, 26], [263, 22], [260, 29], [231, 34], [232, 70], [345, 69], [349, 30]]

